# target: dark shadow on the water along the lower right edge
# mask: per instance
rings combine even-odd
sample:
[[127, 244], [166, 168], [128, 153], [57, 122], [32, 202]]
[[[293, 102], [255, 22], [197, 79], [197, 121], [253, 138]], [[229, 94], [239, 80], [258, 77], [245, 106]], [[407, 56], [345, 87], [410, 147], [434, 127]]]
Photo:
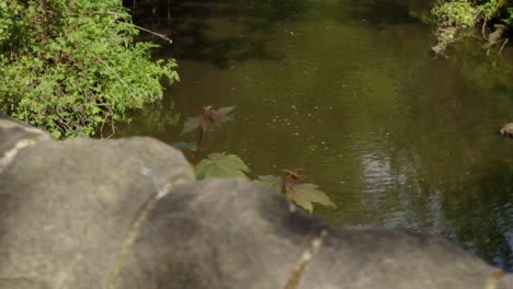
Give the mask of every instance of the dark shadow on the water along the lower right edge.
[[[458, 192], [449, 192], [444, 211], [449, 238], [476, 255], [513, 270], [513, 162], [480, 167]], [[457, 196], [457, 197], [456, 197]]]

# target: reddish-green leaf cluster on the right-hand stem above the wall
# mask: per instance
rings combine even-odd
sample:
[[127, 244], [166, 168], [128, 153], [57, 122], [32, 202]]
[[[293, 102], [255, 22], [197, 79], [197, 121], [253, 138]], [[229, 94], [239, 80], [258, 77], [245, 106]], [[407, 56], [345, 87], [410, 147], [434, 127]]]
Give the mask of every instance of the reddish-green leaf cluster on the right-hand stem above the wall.
[[284, 170], [283, 177], [275, 175], [259, 176], [258, 182], [269, 185], [294, 201], [297, 206], [310, 213], [314, 211], [314, 203], [337, 208], [337, 205], [323, 192], [317, 189], [315, 184], [299, 184], [305, 178], [303, 169]]

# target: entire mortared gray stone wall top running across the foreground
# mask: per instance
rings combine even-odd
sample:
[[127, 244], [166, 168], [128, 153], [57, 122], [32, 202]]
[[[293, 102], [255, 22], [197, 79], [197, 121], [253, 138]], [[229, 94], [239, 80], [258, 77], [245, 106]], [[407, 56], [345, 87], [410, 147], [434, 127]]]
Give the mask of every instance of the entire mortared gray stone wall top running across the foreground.
[[0, 289], [511, 289], [435, 236], [330, 229], [150, 138], [52, 140], [0, 117]]

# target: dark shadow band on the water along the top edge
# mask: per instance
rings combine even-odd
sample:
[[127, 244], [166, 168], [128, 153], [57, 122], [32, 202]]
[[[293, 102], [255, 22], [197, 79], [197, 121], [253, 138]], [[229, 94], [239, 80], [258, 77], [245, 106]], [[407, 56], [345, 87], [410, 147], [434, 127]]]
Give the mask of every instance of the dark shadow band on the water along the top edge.
[[[140, 8], [140, 15], [135, 21], [180, 42], [180, 45], [166, 49], [167, 55], [171, 53], [178, 59], [207, 61], [220, 69], [249, 59], [280, 60], [284, 55], [269, 48], [265, 34], [273, 33], [274, 25], [282, 21], [309, 18], [306, 0], [170, 0], [171, 21], [167, 19], [167, 0], [149, 2]], [[314, 7], [323, 19], [332, 18], [345, 24], [379, 28], [381, 24], [419, 23], [403, 1], [351, 0], [339, 3], [339, 9], [333, 9], [330, 3]], [[223, 26], [231, 27], [219, 32]], [[223, 35], [226, 32], [231, 33]]]

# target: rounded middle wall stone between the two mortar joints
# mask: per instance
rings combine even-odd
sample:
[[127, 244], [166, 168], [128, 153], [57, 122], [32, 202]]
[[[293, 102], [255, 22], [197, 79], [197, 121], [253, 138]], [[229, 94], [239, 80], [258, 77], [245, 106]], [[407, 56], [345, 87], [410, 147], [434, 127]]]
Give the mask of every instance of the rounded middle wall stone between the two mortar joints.
[[142, 223], [116, 288], [285, 288], [326, 227], [288, 208], [281, 195], [242, 180], [181, 186]]

